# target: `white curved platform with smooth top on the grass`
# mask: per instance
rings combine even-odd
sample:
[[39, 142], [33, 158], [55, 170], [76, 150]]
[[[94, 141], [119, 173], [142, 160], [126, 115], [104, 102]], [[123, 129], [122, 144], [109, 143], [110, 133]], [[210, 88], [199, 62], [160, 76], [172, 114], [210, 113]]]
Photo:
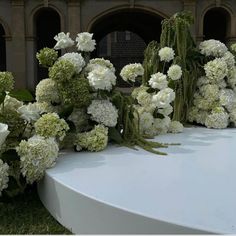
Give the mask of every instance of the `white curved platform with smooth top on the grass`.
[[76, 234], [236, 234], [236, 129], [157, 137], [168, 156], [109, 146], [62, 153], [38, 185], [49, 212]]

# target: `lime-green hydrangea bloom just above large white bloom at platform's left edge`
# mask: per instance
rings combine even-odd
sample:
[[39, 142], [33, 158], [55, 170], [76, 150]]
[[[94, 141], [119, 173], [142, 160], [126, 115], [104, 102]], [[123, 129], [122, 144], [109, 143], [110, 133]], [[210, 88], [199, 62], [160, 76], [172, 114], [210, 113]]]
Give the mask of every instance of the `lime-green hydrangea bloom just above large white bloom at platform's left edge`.
[[66, 131], [69, 130], [69, 126], [65, 120], [60, 119], [56, 113], [42, 115], [42, 117], [35, 122], [34, 126], [36, 134], [45, 138], [56, 137], [59, 138], [60, 141], [63, 140]]

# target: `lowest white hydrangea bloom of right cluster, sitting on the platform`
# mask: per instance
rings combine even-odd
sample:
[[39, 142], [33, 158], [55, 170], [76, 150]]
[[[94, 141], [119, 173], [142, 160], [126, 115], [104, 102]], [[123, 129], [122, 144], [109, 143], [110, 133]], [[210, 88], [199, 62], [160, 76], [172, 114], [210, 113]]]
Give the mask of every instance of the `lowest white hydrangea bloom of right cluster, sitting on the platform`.
[[223, 107], [214, 108], [206, 117], [205, 125], [207, 128], [224, 129], [229, 124], [229, 115]]

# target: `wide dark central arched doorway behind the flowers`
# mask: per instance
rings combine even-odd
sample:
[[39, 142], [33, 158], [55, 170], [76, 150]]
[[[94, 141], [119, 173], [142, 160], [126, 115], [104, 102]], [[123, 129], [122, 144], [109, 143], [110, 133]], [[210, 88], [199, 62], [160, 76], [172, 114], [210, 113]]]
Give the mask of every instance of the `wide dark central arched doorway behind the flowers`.
[[[123, 66], [143, 62], [143, 51], [152, 40], [160, 40], [163, 17], [141, 10], [121, 10], [98, 19], [91, 27], [97, 42], [93, 57], [109, 59], [119, 78]], [[128, 86], [118, 79], [118, 86]]]

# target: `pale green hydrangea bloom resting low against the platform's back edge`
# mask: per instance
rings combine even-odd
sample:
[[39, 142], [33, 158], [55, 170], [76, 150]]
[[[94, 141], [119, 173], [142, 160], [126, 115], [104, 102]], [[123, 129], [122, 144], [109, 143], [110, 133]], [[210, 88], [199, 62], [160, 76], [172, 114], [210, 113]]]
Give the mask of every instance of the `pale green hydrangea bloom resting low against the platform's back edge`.
[[96, 125], [89, 132], [77, 134], [75, 140], [76, 149], [85, 148], [92, 152], [99, 152], [106, 148], [108, 142], [108, 128], [104, 125]]

